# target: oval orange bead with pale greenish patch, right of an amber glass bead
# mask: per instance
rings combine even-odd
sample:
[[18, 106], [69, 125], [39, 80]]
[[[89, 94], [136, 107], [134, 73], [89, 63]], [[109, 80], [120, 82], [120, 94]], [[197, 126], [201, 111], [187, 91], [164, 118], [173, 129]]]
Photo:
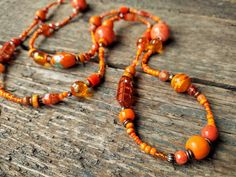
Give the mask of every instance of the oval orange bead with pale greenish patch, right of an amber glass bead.
[[52, 56], [50, 63], [57, 68], [70, 68], [76, 64], [76, 57], [71, 53], [60, 52]]

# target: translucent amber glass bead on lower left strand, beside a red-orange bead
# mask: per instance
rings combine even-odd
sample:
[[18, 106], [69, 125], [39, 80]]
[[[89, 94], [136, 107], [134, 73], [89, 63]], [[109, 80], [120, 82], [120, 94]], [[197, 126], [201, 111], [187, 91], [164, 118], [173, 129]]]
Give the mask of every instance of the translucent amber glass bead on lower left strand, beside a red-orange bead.
[[76, 97], [86, 97], [88, 96], [88, 86], [82, 81], [76, 81], [71, 86], [71, 93]]

